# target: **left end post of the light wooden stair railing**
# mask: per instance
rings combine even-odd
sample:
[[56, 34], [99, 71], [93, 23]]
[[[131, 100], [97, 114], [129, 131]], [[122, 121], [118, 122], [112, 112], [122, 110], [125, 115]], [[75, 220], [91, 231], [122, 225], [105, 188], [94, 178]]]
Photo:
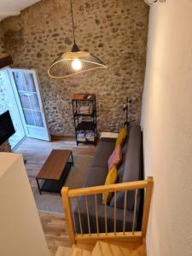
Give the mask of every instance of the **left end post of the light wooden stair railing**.
[[67, 187], [63, 187], [61, 189], [61, 196], [62, 196], [62, 203], [63, 203], [64, 212], [65, 212], [66, 220], [67, 220], [67, 230], [68, 230], [69, 239], [72, 241], [73, 244], [75, 244], [75, 231], [74, 231], [74, 225], [73, 225], [73, 215], [72, 215], [71, 204], [69, 202]]

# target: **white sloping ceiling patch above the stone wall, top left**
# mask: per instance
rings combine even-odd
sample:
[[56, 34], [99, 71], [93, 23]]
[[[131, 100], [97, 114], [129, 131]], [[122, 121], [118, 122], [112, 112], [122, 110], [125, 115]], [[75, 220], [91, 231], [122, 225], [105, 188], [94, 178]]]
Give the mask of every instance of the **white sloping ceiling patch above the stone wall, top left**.
[[37, 3], [39, 0], [0, 0], [0, 20], [13, 15], [20, 15], [20, 10]]

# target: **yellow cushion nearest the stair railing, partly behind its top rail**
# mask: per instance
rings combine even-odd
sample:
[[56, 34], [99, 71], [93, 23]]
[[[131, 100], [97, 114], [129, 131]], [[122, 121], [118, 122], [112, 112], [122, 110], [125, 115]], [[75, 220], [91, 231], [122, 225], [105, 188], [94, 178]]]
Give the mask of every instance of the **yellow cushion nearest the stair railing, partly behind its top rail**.
[[[117, 180], [117, 167], [113, 166], [111, 169], [108, 171], [108, 176], [106, 177], [105, 185], [111, 185], [114, 184]], [[108, 201], [111, 198], [112, 193], [105, 192], [102, 194], [102, 203], [103, 205], [105, 203], [108, 203]]]

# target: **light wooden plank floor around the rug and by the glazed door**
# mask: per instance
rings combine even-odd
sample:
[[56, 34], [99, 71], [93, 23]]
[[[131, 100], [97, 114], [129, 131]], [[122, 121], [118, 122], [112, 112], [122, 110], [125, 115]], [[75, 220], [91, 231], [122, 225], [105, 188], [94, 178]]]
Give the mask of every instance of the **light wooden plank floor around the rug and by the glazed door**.
[[[77, 147], [72, 137], [52, 137], [51, 143], [26, 138], [15, 150], [15, 153], [23, 154], [26, 160], [26, 172], [32, 187], [37, 186], [35, 177], [52, 149], [70, 149], [73, 151], [73, 154], [80, 155], [94, 155], [96, 150], [91, 145], [79, 144]], [[46, 212], [39, 212], [39, 216], [51, 256], [55, 256], [59, 246], [71, 246], [63, 216]]]

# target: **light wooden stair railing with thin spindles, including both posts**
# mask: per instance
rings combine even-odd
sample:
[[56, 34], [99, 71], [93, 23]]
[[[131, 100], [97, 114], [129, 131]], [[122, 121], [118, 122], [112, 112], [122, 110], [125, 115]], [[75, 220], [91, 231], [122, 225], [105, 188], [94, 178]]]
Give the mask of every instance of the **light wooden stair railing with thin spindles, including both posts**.
[[[67, 187], [63, 187], [61, 189], [62, 203], [65, 210], [66, 220], [67, 220], [67, 230], [70, 240], [73, 244], [77, 242], [96, 242], [98, 240], [116, 240], [116, 241], [145, 241], [147, 227], [148, 227], [148, 214], [151, 202], [151, 195], [153, 189], [153, 177], [148, 177], [146, 180], [130, 182], [130, 183], [117, 183], [113, 185], [103, 185], [97, 187], [90, 187], [84, 189], [68, 189]], [[136, 222], [136, 214], [137, 214], [137, 192], [139, 189], [144, 189], [144, 205], [143, 205], [143, 221], [142, 221], [142, 229], [140, 231], [135, 231], [135, 222]], [[135, 202], [134, 202], [134, 213], [132, 219], [132, 230], [127, 232], [125, 230], [125, 211], [126, 211], [126, 195], [127, 191], [134, 190], [135, 191]], [[123, 214], [123, 229], [122, 232], [116, 231], [116, 193], [118, 191], [125, 192], [125, 201], [124, 201], [124, 214]], [[108, 213], [107, 213], [107, 205], [105, 204], [105, 233], [100, 233], [98, 229], [98, 212], [97, 212], [97, 195], [112, 192], [114, 193], [114, 207], [113, 207], [113, 219], [114, 219], [114, 230], [113, 232], [108, 232]], [[87, 196], [94, 195], [95, 197], [95, 207], [96, 207], [96, 233], [90, 232], [90, 216], [89, 216], [89, 205], [87, 203]], [[76, 197], [79, 199], [79, 196], [85, 196], [85, 205], [86, 205], [86, 215], [87, 215], [87, 225], [88, 225], [88, 234], [84, 234], [81, 226], [81, 214], [79, 211], [79, 226], [80, 226], [80, 234], [76, 233], [74, 228], [74, 220], [73, 220], [73, 212], [71, 199]], [[78, 200], [79, 202], [79, 200]], [[79, 209], [79, 203], [78, 203]]]

